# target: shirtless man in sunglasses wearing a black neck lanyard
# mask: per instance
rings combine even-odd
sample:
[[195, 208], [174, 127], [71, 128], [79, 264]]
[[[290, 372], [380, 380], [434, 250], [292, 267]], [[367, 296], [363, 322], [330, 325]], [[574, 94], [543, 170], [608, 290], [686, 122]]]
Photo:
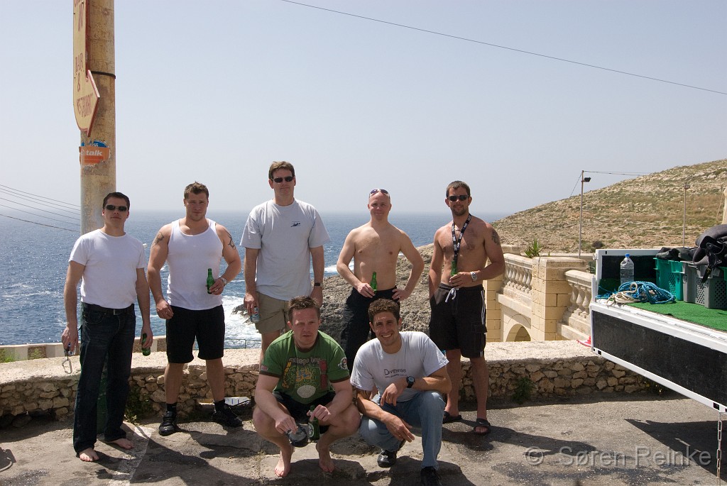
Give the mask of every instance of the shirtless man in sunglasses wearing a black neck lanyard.
[[[447, 373], [452, 391], [447, 394], [443, 422], [460, 420], [460, 358], [470, 358], [477, 398], [475, 434], [490, 432], [487, 421], [489, 369], [484, 357], [485, 299], [483, 280], [505, 271], [499, 235], [491, 224], [470, 214], [470, 187], [462, 181], [447, 186], [445, 203], [451, 222], [434, 234], [429, 269], [429, 301], [432, 317], [429, 335], [439, 349], [446, 350]], [[489, 264], [485, 265], [487, 260]]]

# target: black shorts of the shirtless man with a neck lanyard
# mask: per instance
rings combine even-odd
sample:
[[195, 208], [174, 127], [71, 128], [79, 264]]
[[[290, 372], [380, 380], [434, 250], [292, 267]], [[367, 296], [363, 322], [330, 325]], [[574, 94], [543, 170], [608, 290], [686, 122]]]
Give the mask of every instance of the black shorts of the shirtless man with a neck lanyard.
[[[457, 288], [441, 283], [429, 299], [429, 337], [439, 349], [459, 349], [464, 357], [481, 357], [485, 350], [485, 293], [481, 285]], [[447, 299], [449, 296], [449, 299]]]

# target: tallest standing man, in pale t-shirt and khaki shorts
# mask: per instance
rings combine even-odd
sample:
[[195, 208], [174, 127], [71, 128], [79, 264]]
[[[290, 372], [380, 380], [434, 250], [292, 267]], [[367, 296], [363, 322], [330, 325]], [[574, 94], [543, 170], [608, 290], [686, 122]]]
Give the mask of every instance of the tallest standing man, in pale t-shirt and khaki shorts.
[[[292, 163], [273, 162], [268, 169], [273, 199], [255, 206], [245, 223], [240, 246], [245, 247], [245, 307], [260, 321], [260, 363], [287, 322], [288, 301], [310, 296], [323, 304], [324, 243], [329, 238], [316, 208], [294, 198]], [[310, 262], [313, 260], [313, 285]]]

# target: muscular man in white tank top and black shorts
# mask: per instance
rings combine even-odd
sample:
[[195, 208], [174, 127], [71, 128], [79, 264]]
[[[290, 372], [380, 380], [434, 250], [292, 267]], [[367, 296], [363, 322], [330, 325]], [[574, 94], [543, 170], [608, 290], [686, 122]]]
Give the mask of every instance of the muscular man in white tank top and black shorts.
[[[238, 427], [239, 418], [225, 404], [225, 312], [222, 291], [242, 268], [240, 255], [227, 228], [206, 218], [209, 191], [199, 182], [185, 187], [185, 217], [164, 225], [151, 246], [148, 278], [156, 302], [156, 313], [166, 320], [166, 359], [164, 392], [166, 413], [159, 434], [177, 432], [177, 398], [185, 363], [193, 360], [196, 339], [198, 357], [205, 360], [207, 384], [212, 390], [212, 419]], [[227, 269], [220, 274], [222, 258]], [[161, 291], [161, 268], [169, 266], [166, 300]], [[208, 269], [214, 284], [206, 285]]]

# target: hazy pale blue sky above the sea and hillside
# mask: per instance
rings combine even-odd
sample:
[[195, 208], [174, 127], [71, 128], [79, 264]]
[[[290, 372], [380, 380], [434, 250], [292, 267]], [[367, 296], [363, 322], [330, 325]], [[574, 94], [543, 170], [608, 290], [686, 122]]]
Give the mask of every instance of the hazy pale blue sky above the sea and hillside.
[[[581, 170], [727, 157], [725, 1], [307, 4], [448, 36], [281, 0], [116, 1], [117, 189], [134, 208], [181, 208], [198, 180], [211, 208], [246, 213], [287, 160], [321, 212], [365, 211], [384, 187], [394, 211], [446, 216], [462, 179], [473, 212], [513, 213], [578, 193]], [[72, 20], [71, 0], [0, 2], [0, 184], [78, 203]]]

